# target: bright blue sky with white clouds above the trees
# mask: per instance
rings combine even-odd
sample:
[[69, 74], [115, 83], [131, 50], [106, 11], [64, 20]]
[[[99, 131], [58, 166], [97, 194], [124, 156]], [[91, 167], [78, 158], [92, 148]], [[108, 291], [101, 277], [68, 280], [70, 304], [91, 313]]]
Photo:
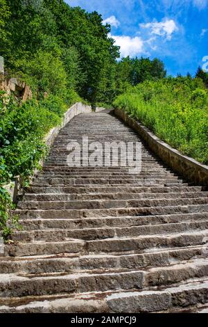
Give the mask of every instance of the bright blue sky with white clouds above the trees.
[[194, 74], [208, 56], [208, 0], [66, 0], [103, 15], [123, 56], [164, 61], [168, 74]]

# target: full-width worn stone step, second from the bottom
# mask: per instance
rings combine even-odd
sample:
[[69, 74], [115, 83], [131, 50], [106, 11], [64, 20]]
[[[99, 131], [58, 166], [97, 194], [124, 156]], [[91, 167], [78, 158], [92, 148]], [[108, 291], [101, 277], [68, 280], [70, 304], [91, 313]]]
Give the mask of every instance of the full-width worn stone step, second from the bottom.
[[[208, 262], [198, 259], [190, 263], [155, 267], [148, 271], [113, 271], [97, 273], [51, 273], [33, 276], [26, 274], [1, 274], [0, 297], [42, 296], [46, 294], [82, 294], [86, 292], [106, 292], [132, 290], [144, 287], [168, 285], [207, 277]], [[43, 287], [44, 285], [44, 287]]]

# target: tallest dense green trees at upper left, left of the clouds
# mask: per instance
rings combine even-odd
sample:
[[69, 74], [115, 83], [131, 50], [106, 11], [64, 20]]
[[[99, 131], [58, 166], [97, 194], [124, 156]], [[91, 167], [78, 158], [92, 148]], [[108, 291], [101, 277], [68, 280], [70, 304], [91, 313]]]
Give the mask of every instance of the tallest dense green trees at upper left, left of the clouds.
[[[10, 24], [4, 24], [3, 31], [10, 33], [10, 45], [1, 46], [0, 40], [0, 49], [12, 72], [31, 74], [40, 53], [49, 53], [43, 58], [45, 67], [51, 56], [56, 63], [62, 61], [68, 88], [91, 102], [111, 101], [119, 48], [109, 38], [110, 26], [103, 26], [101, 15], [71, 8], [63, 0], [8, 0], [7, 4]], [[33, 72], [33, 77], [38, 74]], [[42, 86], [50, 89], [45, 81]]]

